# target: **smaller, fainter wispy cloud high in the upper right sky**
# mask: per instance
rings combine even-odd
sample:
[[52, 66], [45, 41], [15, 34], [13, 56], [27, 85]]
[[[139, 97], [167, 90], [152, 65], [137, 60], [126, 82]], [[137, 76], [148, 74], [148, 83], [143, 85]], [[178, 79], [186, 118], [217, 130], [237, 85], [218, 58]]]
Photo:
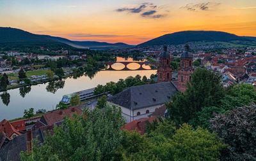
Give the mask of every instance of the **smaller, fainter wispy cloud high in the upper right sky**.
[[197, 4], [189, 3], [189, 4], [186, 4], [186, 6], [182, 6], [180, 8], [185, 8], [188, 11], [198, 11], [198, 10], [207, 11], [209, 10], [209, 8], [214, 8], [218, 5], [220, 5], [220, 3], [211, 3], [211, 2], [197, 3]]

